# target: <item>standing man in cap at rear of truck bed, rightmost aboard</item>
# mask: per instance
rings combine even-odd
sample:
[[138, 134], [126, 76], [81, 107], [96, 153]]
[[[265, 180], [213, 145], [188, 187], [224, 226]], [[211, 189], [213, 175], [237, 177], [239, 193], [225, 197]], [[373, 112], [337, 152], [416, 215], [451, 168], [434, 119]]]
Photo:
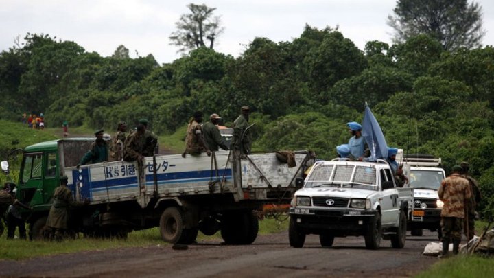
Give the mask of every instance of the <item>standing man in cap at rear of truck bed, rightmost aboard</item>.
[[250, 146], [252, 144], [250, 132], [247, 129], [249, 113], [250, 108], [248, 106], [242, 106], [240, 108], [240, 115], [233, 121], [231, 146], [233, 146], [233, 150], [239, 150], [241, 154], [250, 154]]

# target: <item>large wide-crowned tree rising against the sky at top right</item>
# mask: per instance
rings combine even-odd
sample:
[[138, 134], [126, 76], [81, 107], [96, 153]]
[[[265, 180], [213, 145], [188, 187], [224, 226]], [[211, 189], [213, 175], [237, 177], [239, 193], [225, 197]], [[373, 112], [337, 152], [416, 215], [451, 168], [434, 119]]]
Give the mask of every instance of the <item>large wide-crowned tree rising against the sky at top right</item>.
[[436, 38], [445, 50], [480, 47], [482, 8], [467, 0], [398, 0], [388, 16], [388, 25], [395, 29], [395, 43], [418, 34]]

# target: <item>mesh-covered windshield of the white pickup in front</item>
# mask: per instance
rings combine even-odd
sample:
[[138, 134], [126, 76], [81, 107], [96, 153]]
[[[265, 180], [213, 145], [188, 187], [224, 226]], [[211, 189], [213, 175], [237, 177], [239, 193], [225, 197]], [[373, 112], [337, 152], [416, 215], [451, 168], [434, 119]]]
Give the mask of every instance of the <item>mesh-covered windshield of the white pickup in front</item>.
[[377, 190], [374, 167], [360, 165], [314, 165], [305, 187], [351, 187]]

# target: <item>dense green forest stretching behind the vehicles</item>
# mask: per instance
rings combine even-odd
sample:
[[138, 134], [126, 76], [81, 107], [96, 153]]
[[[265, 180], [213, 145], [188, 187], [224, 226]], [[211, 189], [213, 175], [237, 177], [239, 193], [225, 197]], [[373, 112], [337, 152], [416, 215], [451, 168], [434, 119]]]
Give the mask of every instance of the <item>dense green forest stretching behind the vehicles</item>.
[[[118, 49], [117, 49], [118, 50]], [[200, 47], [169, 64], [152, 55], [102, 57], [75, 42], [27, 34], [0, 53], [0, 117], [44, 113], [46, 126], [114, 130], [150, 120], [158, 135], [183, 130], [194, 111], [228, 125], [250, 106], [255, 150], [314, 150], [336, 156], [362, 121], [365, 102], [388, 146], [469, 161], [493, 211], [494, 49], [445, 50], [426, 35], [364, 51], [330, 27], [309, 25], [292, 41], [255, 38], [238, 58]], [[185, 137], [185, 135], [184, 135]]]

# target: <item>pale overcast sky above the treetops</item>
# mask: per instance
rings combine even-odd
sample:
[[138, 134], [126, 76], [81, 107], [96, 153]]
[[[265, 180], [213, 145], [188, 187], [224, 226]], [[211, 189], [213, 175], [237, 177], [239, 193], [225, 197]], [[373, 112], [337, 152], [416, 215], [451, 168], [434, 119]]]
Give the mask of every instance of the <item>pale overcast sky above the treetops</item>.
[[[486, 30], [482, 45], [494, 45], [494, 1], [475, 2], [482, 6]], [[361, 50], [370, 40], [392, 44], [386, 20], [396, 0], [1, 0], [0, 51], [29, 32], [71, 40], [101, 56], [124, 45], [131, 58], [152, 54], [160, 64], [173, 62], [180, 53], [168, 37], [180, 15], [189, 13], [189, 3], [216, 8], [224, 33], [214, 49], [234, 57], [256, 37], [291, 42], [306, 23], [318, 29], [338, 26]]]

